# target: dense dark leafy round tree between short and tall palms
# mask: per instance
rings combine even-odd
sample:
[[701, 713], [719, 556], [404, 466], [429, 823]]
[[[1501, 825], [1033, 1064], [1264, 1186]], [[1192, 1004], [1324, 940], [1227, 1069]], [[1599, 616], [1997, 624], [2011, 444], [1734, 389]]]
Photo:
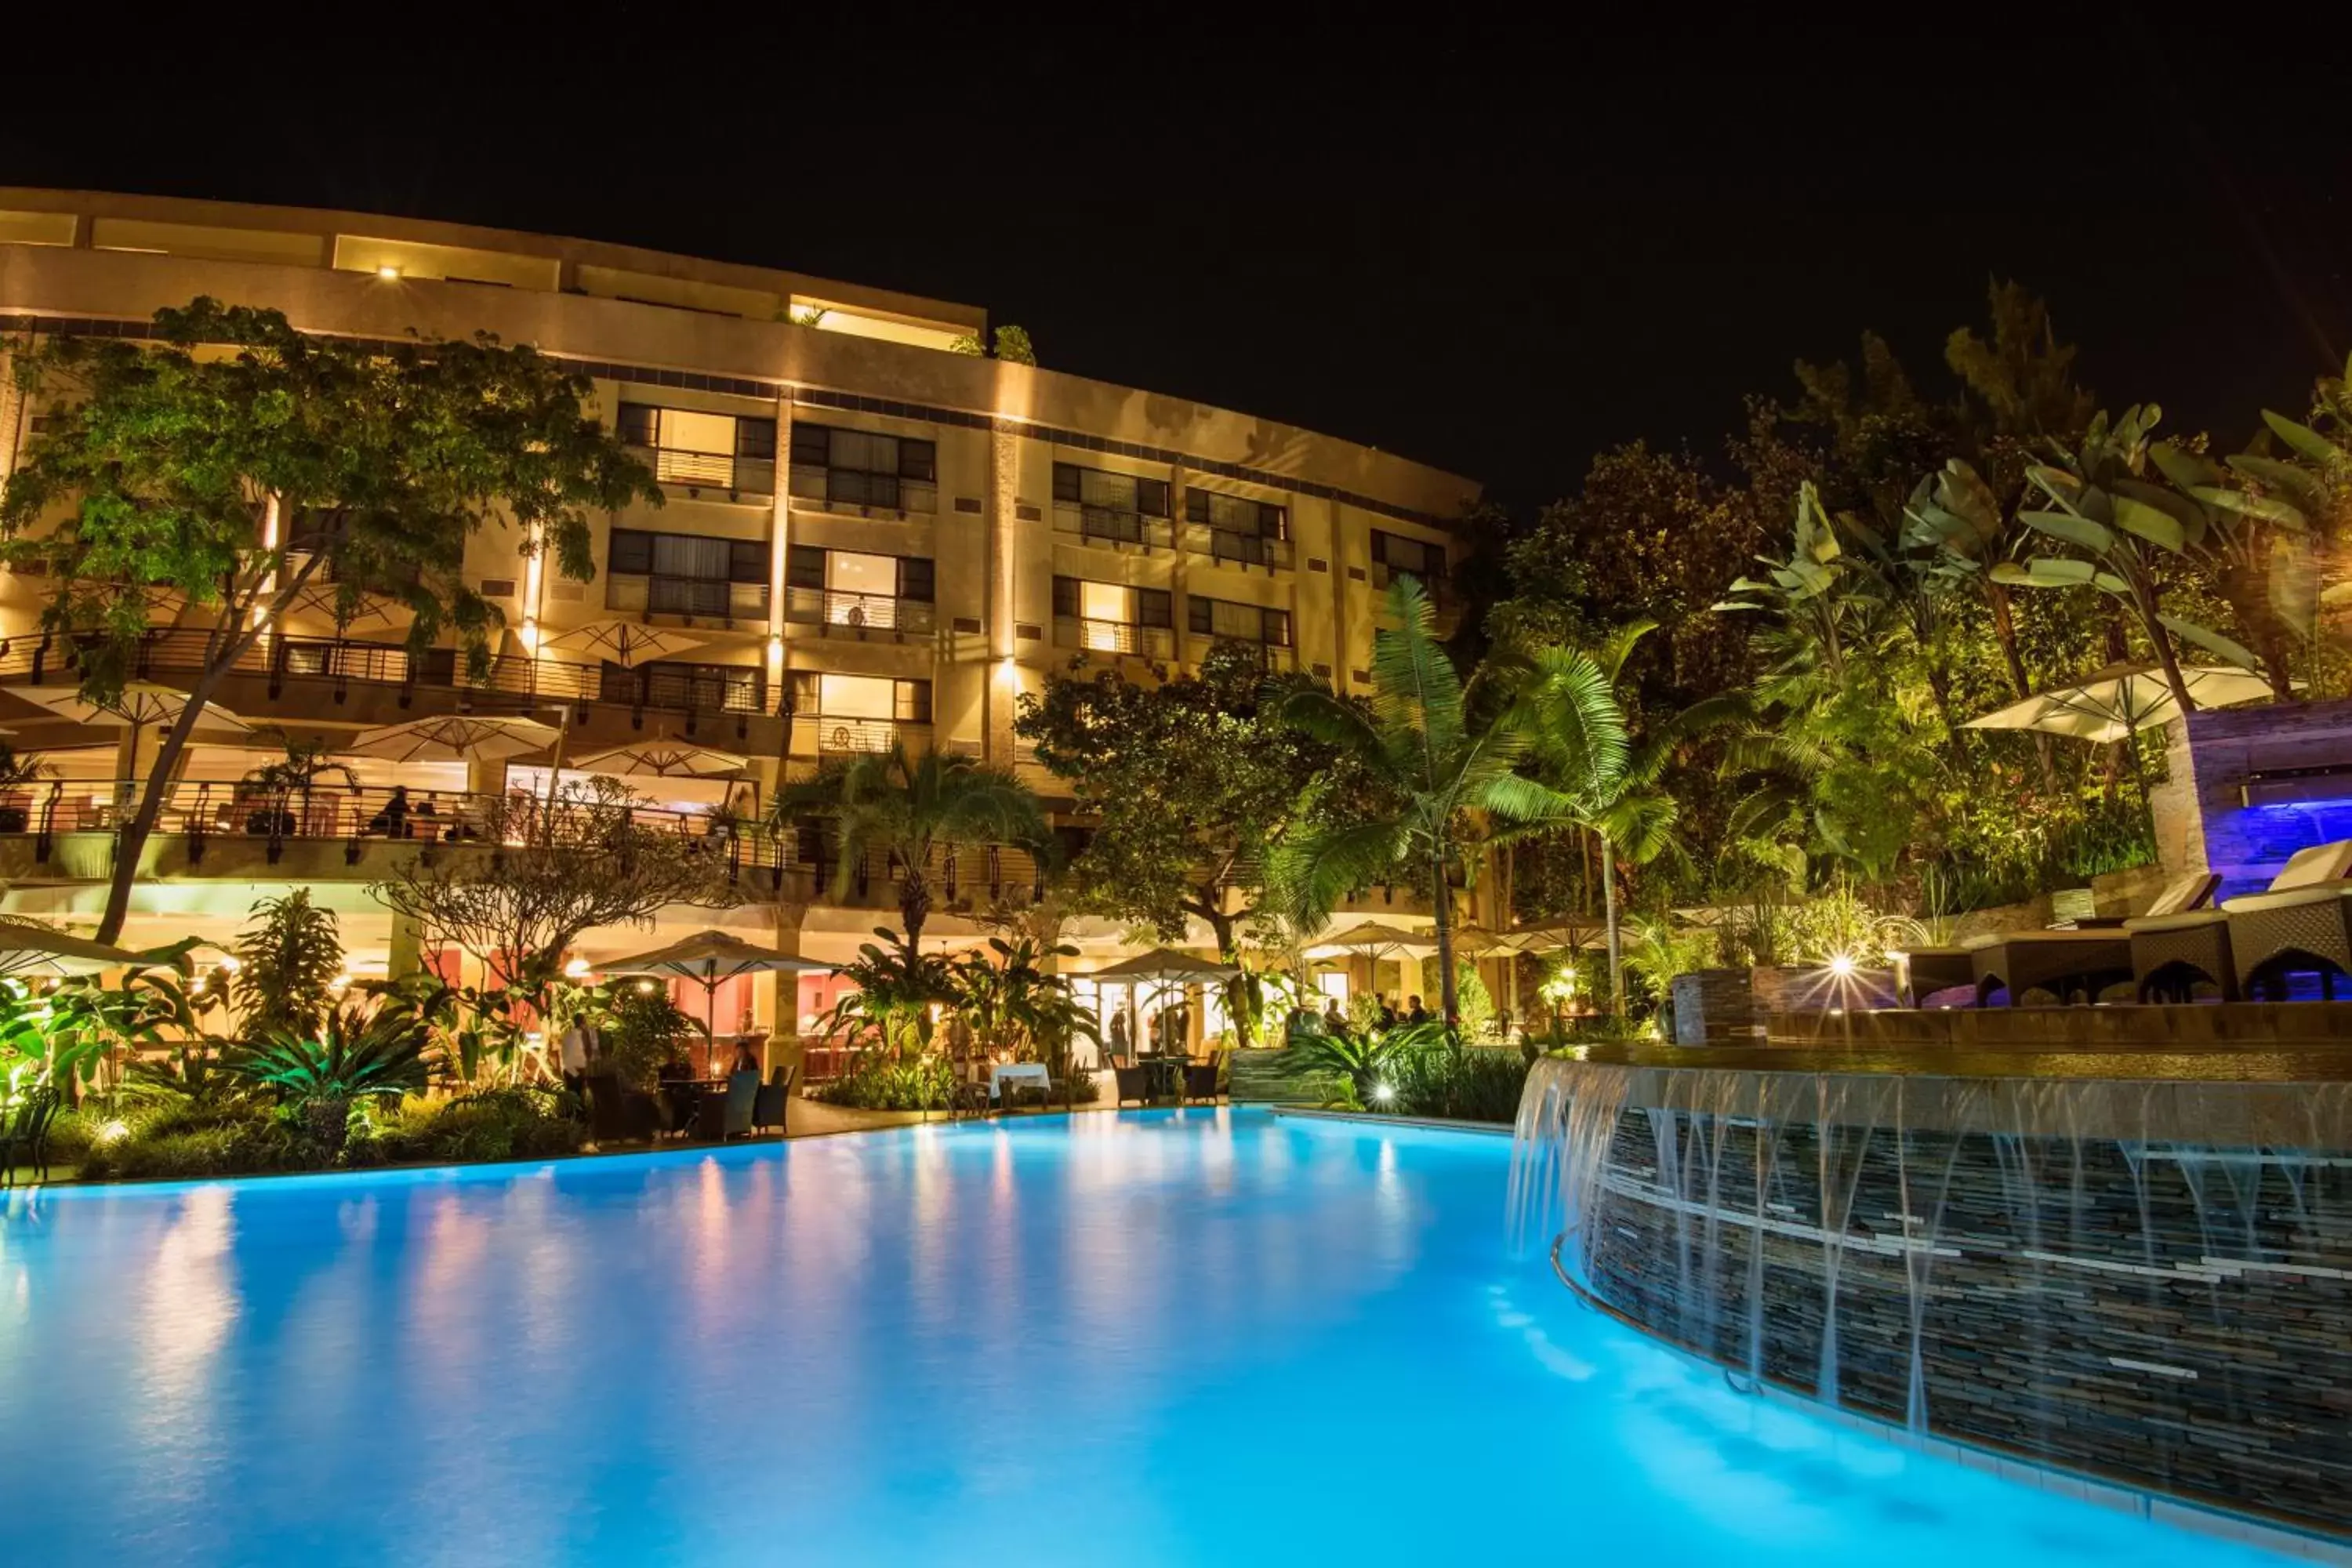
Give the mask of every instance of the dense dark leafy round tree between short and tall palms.
[[1117, 670], [1056, 675], [1044, 696], [1021, 698], [1014, 733], [1091, 818], [1070, 863], [1075, 907], [1148, 926], [1162, 943], [1200, 919], [1218, 957], [1237, 957], [1272, 846], [1305, 785], [1336, 762], [1258, 701], [1261, 684], [1254, 649], [1216, 644], [1200, 675], [1155, 686]]

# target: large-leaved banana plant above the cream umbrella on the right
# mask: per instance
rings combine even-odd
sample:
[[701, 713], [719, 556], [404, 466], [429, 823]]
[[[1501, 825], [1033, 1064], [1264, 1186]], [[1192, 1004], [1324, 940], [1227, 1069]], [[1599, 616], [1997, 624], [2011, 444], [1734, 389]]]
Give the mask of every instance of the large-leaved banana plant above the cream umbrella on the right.
[[2077, 451], [2030, 465], [2025, 477], [2051, 505], [2020, 510], [2018, 522], [2070, 552], [1994, 562], [1992, 578], [2011, 588], [2098, 588], [2110, 595], [2140, 625], [2180, 712], [2194, 712], [2178, 642], [2246, 670], [2256, 668], [2256, 658], [2244, 644], [2164, 611], [2161, 567], [2199, 550], [2209, 522], [2204, 505], [2147, 480], [2147, 433], [2161, 416], [2157, 404], [2133, 404], [2114, 421], [2100, 411]]

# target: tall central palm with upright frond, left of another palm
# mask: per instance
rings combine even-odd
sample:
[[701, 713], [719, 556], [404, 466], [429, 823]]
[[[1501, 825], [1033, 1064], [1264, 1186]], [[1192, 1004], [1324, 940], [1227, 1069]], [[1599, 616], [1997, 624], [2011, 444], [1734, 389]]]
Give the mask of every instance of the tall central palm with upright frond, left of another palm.
[[1454, 893], [1449, 867], [1475, 816], [1534, 823], [1562, 816], [1566, 802], [1515, 769], [1529, 752], [1526, 712], [1472, 679], [1465, 689], [1437, 646], [1437, 611], [1411, 576], [1388, 590], [1395, 625], [1374, 637], [1371, 705], [1322, 686], [1270, 689], [1268, 705], [1308, 736], [1338, 748], [1388, 797], [1378, 816], [1329, 823], [1284, 842], [1275, 879], [1315, 926], [1338, 898], [1399, 863], [1418, 860], [1430, 877], [1437, 914], [1437, 973], [1444, 1018], [1456, 1020]]

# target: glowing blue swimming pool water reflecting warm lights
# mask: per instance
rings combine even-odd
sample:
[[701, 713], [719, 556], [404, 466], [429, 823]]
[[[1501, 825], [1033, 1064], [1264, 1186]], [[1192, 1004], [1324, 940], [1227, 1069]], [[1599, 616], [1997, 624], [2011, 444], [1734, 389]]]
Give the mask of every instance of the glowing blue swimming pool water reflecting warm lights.
[[2272, 1561], [1740, 1399], [1503, 1138], [1089, 1114], [0, 1208], [12, 1563]]

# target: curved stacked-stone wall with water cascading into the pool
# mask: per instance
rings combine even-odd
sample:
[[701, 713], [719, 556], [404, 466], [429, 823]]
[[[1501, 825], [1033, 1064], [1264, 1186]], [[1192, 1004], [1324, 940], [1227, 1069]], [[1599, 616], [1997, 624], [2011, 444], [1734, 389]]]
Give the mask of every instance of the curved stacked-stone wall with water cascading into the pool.
[[1912, 1432], [2352, 1535], [2352, 1086], [1642, 1058], [1541, 1063], [1519, 1112], [1524, 1234], [1599, 1305]]

